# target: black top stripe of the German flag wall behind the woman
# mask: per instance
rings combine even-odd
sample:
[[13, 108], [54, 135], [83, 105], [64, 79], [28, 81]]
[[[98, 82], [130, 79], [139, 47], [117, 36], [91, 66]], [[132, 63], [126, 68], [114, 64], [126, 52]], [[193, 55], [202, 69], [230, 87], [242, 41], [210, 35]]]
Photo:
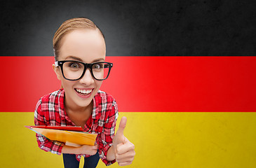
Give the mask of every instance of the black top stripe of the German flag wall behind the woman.
[[60, 24], [93, 20], [107, 55], [256, 55], [253, 0], [21, 1], [1, 3], [0, 54], [51, 56]]

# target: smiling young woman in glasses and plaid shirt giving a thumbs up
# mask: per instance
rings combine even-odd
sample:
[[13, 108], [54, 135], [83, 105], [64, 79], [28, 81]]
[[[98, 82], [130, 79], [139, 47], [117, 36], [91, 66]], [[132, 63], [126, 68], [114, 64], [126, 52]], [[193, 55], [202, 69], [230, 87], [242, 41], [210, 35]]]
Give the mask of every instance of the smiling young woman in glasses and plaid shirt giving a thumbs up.
[[62, 89], [46, 94], [36, 104], [35, 125], [81, 126], [84, 132], [96, 133], [95, 146], [66, 146], [36, 134], [39, 148], [63, 155], [65, 167], [96, 167], [99, 158], [105, 165], [133, 162], [134, 145], [123, 136], [126, 118], [121, 118], [116, 134], [118, 110], [115, 99], [100, 91], [113, 64], [105, 62], [105, 38], [87, 18], [73, 18], [62, 23], [53, 37], [53, 70]]

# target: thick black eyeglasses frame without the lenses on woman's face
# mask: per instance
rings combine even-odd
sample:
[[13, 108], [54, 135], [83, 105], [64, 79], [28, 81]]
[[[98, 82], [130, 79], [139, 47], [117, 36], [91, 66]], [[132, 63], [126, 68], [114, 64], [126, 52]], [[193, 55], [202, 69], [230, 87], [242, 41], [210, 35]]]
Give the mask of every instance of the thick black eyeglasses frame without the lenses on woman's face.
[[[66, 77], [64, 76], [64, 73], [63, 73], [63, 64], [64, 64], [65, 62], [79, 62], [80, 64], [83, 64], [84, 69], [83, 69], [83, 73], [82, 73], [81, 77], [78, 78], [78, 79], [69, 79], [69, 78], [66, 78]], [[62, 76], [63, 76], [66, 80], [79, 80], [79, 79], [83, 78], [84, 73], [86, 73], [86, 69], [90, 69], [90, 74], [93, 76], [93, 78], [95, 78], [95, 76], [93, 75], [92, 66], [93, 66], [94, 64], [99, 64], [99, 63], [107, 63], [107, 64], [109, 65], [109, 73], [110, 73], [110, 71], [111, 71], [111, 69], [112, 69], [112, 67], [113, 67], [113, 63], [110, 63], [110, 62], [93, 62], [93, 63], [91, 63], [91, 64], [84, 63], [84, 62], [80, 62], [80, 61], [75, 61], [75, 60], [65, 60], [65, 61], [56, 61], [56, 62], [54, 62], [55, 67], [60, 66], [60, 69], [61, 69], [61, 71], [62, 71]], [[105, 79], [107, 79], [107, 78], [109, 77], [109, 73], [107, 74], [107, 77], [106, 77], [106, 78], [103, 78], [103, 79], [97, 79], [97, 78], [95, 78], [95, 80], [105, 80]]]

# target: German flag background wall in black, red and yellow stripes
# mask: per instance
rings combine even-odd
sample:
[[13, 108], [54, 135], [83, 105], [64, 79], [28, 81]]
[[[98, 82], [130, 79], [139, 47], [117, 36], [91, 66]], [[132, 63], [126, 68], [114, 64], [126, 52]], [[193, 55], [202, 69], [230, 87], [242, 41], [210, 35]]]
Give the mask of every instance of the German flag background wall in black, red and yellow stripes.
[[63, 167], [24, 126], [34, 125], [39, 98], [60, 88], [52, 38], [76, 17], [105, 34], [114, 67], [101, 90], [116, 98], [118, 123], [128, 118], [136, 155], [127, 167], [256, 167], [255, 1], [17, 0], [0, 8], [0, 167]]

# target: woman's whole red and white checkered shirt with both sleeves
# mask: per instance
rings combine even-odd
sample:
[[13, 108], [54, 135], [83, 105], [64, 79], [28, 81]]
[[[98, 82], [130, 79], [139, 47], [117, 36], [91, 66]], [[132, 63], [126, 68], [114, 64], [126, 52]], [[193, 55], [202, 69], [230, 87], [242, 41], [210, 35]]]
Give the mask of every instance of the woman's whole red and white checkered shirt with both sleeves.
[[[65, 111], [64, 96], [65, 91], [60, 89], [41, 97], [36, 104], [34, 124], [75, 126]], [[87, 120], [83, 131], [97, 134], [96, 143], [98, 145], [99, 155], [105, 165], [112, 165], [116, 162], [116, 160], [107, 161], [107, 151], [112, 146], [118, 116], [117, 104], [114, 98], [106, 92], [99, 90], [93, 98], [93, 113]], [[62, 148], [65, 144], [58, 141], [50, 141], [40, 134], [36, 134], [36, 139], [39, 148], [43, 151], [50, 151], [51, 153], [61, 155]], [[80, 160], [81, 156], [76, 155], [76, 159]], [[83, 157], [88, 156], [90, 155], [83, 155]]]

